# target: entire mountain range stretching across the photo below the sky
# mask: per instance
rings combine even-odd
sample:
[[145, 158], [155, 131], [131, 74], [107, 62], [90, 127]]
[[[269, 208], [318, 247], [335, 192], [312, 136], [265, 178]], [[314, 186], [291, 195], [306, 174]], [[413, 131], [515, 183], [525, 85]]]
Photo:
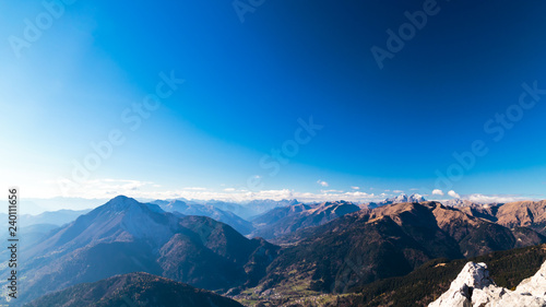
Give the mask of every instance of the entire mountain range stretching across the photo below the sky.
[[[400, 202], [406, 199], [412, 201]], [[33, 304], [78, 306], [70, 305], [80, 302], [75, 297], [119, 302], [186, 283], [186, 288], [215, 291], [245, 304], [284, 306], [294, 297], [331, 298], [412, 276], [435, 259], [446, 262], [546, 243], [546, 201], [448, 206], [417, 200], [401, 196], [378, 208], [294, 201], [247, 222], [213, 205], [142, 203], [120, 196], [68, 224], [49, 226], [21, 250], [24, 292], [17, 303], [43, 295], [45, 300]], [[216, 221], [222, 219], [226, 223]], [[227, 222], [282, 247], [247, 238]], [[100, 292], [130, 281], [141, 287], [120, 295]]]

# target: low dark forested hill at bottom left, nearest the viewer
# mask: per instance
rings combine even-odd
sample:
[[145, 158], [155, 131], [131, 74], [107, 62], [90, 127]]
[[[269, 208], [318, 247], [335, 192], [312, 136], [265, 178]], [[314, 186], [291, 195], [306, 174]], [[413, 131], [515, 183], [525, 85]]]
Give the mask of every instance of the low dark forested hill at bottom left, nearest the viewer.
[[25, 307], [242, 307], [209, 291], [147, 273], [117, 275], [45, 295]]

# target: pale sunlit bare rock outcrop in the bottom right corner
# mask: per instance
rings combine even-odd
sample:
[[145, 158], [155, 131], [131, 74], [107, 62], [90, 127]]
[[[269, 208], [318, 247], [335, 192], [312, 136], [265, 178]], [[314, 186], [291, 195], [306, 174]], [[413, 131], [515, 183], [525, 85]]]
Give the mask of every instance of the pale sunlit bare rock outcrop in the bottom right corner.
[[499, 287], [485, 263], [468, 262], [450, 288], [429, 307], [546, 307], [546, 262], [515, 291]]

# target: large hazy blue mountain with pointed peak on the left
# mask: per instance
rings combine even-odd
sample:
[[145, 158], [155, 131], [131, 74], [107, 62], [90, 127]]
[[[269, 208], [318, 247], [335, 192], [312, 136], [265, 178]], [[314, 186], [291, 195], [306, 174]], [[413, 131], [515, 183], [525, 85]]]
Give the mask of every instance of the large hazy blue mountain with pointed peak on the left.
[[19, 302], [138, 271], [209, 290], [251, 286], [277, 250], [210, 217], [117, 197], [22, 251], [25, 291]]

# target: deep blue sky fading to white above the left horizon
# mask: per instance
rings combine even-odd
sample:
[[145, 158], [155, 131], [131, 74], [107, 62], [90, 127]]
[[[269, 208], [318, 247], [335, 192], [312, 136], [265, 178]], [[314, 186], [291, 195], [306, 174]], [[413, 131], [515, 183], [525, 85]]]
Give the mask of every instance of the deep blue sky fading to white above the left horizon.
[[[543, 1], [252, 3], [244, 22], [230, 1], [73, 1], [55, 15], [0, 3], [2, 186], [36, 198], [545, 198], [546, 95], [522, 87], [546, 88]], [[380, 69], [371, 48], [388, 51], [387, 31], [424, 5], [436, 13]], [[43, 23], [32, 39], [25, 20]], [[139, 115], [162, 72], [185, 82]], [[544, 98], [518, 107], [523, 93]], [[311, 117], [322, 128], [295, 142]], [[123, 143], [74, 177], [112, 131]], [[476, 141], [487, 153], [465, 168], [453, 154]], [[283, 144], [283, 163], [268, 156]]]

